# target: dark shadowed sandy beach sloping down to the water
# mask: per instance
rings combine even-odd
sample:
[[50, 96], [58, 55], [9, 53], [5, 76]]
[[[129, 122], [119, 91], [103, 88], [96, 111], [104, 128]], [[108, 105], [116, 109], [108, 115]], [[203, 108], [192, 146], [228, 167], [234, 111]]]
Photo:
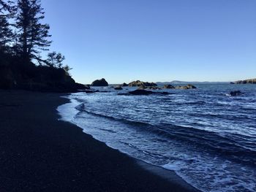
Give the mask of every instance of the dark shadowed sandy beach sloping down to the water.
[[0, 191], [194, 191], [58, 120], [60, 96], [0, 91]]

